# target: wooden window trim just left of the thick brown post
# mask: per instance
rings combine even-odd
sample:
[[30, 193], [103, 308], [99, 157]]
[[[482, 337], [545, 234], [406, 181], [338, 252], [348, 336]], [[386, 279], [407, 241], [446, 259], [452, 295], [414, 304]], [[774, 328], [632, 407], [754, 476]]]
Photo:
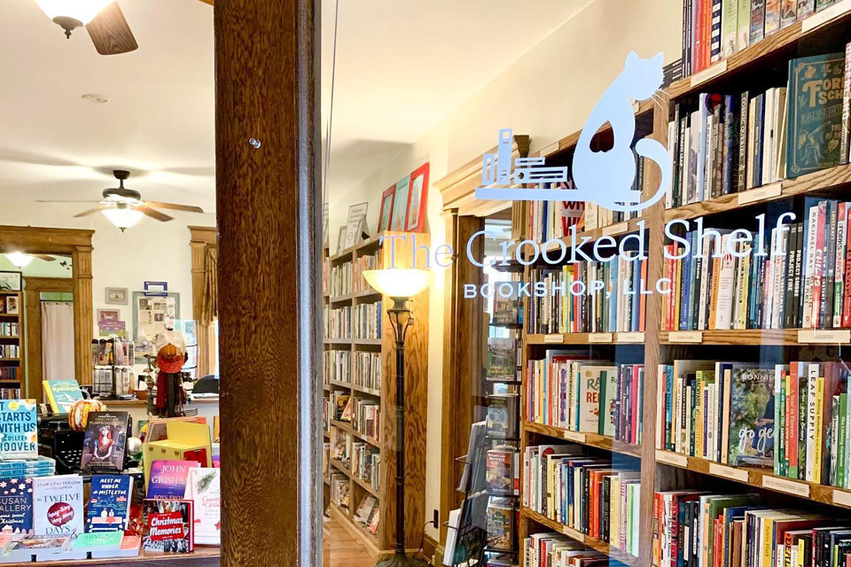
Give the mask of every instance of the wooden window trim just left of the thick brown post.
[[198, 328], [198, 372], [197, 377], [213, 374], [215, 369], [215, 333], [213, 325], [204, 322], [201, 316], [207, 293], [207, 266], [204, 254], [208, 245], [218, 245], [215, 227], [189, 227], [192, 273], [192, 319]]

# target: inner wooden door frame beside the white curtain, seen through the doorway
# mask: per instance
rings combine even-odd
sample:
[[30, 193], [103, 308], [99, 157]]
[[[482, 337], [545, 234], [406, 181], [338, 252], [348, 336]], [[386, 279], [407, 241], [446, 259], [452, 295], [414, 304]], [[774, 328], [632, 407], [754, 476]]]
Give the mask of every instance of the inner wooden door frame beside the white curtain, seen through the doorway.
[[42, 369], [42, 293], [74, 293], [69, 277], [24, 278], [24, 310], [27, 313], [27, 398], [43, 400]]

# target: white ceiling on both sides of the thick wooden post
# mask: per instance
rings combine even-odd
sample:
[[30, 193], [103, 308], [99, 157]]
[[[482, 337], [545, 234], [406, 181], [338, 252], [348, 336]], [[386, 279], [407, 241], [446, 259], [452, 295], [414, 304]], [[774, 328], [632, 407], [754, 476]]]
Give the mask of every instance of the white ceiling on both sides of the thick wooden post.
[[[330, 183], [369, 175], [589, 1], [340, 0]], [[98, 199], [120, 167], [143, 198], [213, 210], [213, 8], [121, 9], [140, 47], [104, 57], [82, 29], [66, 40], [35, 0], [2, 3], [0, 199]], [[326, 116], [333, 13], [324, 0]]]

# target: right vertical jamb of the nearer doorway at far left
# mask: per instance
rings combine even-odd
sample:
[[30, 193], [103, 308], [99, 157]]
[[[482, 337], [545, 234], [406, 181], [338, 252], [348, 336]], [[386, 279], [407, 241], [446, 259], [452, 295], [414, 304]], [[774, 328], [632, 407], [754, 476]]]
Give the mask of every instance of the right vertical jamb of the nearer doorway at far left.
[[92, 322], [91, 246], [74, 246], [71, 269], [74, 278], [74, 373], [80, 384], [91, 384]]

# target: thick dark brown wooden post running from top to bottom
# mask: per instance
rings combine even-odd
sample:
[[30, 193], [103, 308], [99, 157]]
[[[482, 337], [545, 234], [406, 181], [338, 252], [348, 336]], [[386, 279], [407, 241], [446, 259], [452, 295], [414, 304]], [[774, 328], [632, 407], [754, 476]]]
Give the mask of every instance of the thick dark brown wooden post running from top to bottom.
[[317, 0], [215, 2], [229, 567], [322, 561], [319, 8]]

